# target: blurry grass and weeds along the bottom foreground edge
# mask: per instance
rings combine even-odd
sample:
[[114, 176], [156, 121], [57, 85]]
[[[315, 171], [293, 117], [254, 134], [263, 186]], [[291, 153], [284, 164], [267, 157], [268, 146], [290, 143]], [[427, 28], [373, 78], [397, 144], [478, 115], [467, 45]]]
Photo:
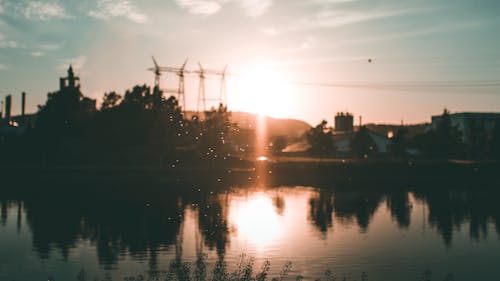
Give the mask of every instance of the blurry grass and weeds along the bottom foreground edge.
[[[124, 277], [123, 281], [302, 281], [303, 276], [297, 275], [290, 277], [289, 273], [292, 270], [292, 263], [287, 262], [283, 265], [278, 276], [271, 277], [269, 272], [271, 263], [265, 261], [259, 270], [255, 270], [253, 258], [247, 258], [246, 255], [241, 255], [238, 264], [234, 271], [228, 271], [228, 265], [224, 259], [218, 259], [213, 267], [209, 270], [209, 264], [206, 261], [206, 255], [199, 255], [194, 263], [172, 261], [167, 270], [149, 272], [146, 275], [136, 275]], [[106, 274], [102, 278], [90, 278], [85, 270], [81, 270], [76, 276], [77, 281], [113, 281], [113, 278]], [[359, 279], [349, 281], [368, 281], [368, 275], [362, 272]], [[415, 280], [409, 277], [407, 280]], [[418, 281], [439, 280], [432, 278], [432, 272], [427, 270]], [[455, 280], [453, 275], [448, 274], [443, 281]], [[49, 281], [55, 281], [50, 279]], [[322, 278], [317, 278], [314, 281], [348, 281], [346, 278], [337, 278], [332, 271], [325, 271]]]

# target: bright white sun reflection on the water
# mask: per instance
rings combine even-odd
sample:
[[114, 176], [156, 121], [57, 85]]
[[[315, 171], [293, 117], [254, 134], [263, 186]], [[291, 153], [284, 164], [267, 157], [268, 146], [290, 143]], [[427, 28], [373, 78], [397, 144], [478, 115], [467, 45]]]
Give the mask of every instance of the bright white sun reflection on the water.
[[280, 234], [280, 218], [271, 199], [262, 194], [234, 202], [230, 214], [238, 235], [257, 247], [265, 247]]

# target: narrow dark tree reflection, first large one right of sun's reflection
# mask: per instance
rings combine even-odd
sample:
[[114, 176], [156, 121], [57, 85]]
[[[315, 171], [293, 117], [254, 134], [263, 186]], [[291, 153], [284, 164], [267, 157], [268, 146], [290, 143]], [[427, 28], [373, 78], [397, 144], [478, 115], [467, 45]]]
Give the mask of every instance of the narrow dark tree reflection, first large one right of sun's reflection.
[[332, 227], [333, 198], [329, 190], [320, 190], [309, 199], [309, 220], [324, 238]]

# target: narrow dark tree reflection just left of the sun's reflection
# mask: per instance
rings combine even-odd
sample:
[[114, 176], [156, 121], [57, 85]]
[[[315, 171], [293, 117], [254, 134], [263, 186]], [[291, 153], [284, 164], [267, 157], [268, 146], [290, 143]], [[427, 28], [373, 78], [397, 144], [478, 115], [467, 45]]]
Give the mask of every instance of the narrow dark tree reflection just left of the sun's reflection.
[[208, 196], [198, 205], [198, 226], [210, 250], [224, 256], [229, 245], [228, 194]]

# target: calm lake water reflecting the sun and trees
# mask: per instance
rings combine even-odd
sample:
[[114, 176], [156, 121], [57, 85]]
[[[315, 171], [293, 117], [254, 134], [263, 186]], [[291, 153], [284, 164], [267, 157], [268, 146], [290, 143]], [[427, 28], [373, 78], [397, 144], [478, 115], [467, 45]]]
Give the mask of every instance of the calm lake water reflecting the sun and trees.
[[[138, 189], [146, 188], [138, 186]], [[69, 193], [70, 194], [70, 193]], [[262, 185], [118, 196], [0, 195], [0, 280], [114, 280], [241, 254], [290, 280], [500, 278], [500, 192]], [[47, 279], [45, 279], [47, 280]]]

